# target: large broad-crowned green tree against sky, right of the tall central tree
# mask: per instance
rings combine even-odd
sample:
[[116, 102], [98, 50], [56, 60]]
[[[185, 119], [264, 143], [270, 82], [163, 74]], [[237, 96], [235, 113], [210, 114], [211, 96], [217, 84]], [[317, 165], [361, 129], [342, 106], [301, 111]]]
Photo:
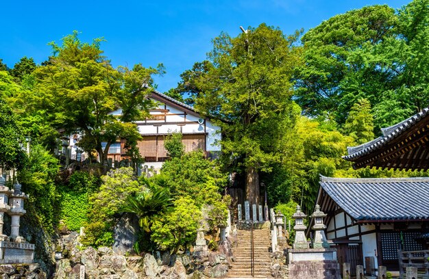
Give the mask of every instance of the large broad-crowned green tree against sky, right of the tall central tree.
[[373, 5], [333, 16], [310, 29], [302, 37], [305, 64], [296, 76], [295, 97], [304, 113], [332, 115], [343, 124], [360, 98], [392, 107], [395, 102], [384, 92], [397, 86], [399, 69], [388, 55], [396, 25], [395, 10]]

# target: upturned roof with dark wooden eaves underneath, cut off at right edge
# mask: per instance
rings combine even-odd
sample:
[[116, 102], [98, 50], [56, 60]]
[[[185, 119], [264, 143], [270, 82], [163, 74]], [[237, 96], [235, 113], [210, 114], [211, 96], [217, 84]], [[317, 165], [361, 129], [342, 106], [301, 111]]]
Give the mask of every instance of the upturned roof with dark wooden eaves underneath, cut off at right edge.
[[429, 107], [418, 114], [382, 129], [382, 136], [360, 146], [347, 147], [347, 161], [354, 168], [428, 169]]

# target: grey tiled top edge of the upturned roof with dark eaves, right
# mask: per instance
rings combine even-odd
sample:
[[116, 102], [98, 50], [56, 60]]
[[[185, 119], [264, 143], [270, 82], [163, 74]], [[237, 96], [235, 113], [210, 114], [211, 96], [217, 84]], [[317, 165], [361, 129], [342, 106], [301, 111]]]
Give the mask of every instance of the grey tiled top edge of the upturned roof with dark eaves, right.
[[347, 147], [348, 155], [343, 156], [343, 159], [347, 161], [353, 161], [354, 159], [362, 157], [363, 155], [367, 155], [369, 152], [379, 148], [380, 146], [383, 146], [384, 144], [387, 144], [392, 139], [397, 137], [397, 135], [400, 135], [404, 131], [408, 130], [421, 119], [426, 118], [426, 116], [429, 115], [428, 112], [429, 107], [426, 107], [426, 109], [423, 109], [418, 114], [415, 114], [414, 116], [411, 116], [400, 123], [381, 129], [383, 134], [381, 137], [373, 139], [371, 142], [360, 144], [360, 146]]

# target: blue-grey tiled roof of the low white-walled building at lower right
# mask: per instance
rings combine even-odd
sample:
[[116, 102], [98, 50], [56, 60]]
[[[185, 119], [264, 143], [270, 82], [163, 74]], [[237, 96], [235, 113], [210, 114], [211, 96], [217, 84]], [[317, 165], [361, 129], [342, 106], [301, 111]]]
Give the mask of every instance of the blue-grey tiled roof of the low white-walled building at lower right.
[[429, 219], [429, 177], [321, 176], [320, 185], [355, 220]]

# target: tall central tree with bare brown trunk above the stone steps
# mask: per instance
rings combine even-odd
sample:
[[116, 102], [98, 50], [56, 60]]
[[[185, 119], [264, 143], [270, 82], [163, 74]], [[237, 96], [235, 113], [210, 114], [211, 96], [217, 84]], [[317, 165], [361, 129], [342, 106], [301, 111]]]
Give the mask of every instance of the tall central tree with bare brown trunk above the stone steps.
[[226, 165], [246, 174], [246, 199], [257, 204], [259, 172], [280, 160], [277, 152], [284, 118], [291, 111], [293, 69], [299, 64], [299, 32], [286, 37], [267, 25], [250, 28], [236, 38], [213, 40], [210, 64], [195, 84], [197, 111], [217, 121]]

